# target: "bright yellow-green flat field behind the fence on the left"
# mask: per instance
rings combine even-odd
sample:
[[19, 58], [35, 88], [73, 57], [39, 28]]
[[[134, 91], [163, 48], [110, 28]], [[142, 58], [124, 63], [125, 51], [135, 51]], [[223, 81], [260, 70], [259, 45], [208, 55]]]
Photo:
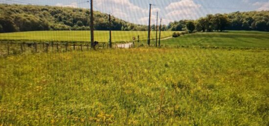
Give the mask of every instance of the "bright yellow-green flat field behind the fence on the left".
[[[162, 32], [161, 38], [172, 36], [173, 32]], [[112, 31], [112, 42], [133, 41], [139, 35], [140, 40], [148, 38], [147, 31]], [[151, 39], [156, 32], [151, 32]], [[109, 41], [109, 31], [95, 31], [94, 39], [99, 42]], [[32, 40], [32, 41], [90, 41], [90, 31], [36, 31], [0, 34], [1, 40]]]

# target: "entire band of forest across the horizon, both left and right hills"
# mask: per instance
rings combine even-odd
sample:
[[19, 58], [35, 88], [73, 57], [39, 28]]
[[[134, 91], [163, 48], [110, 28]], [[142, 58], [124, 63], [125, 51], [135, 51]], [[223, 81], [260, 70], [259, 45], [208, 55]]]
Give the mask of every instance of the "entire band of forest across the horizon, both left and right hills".
[[[44, 30], [90, 30], [89, 9], [0, 4], [0, 33]], [[109, 30], [108, 15], [94, 12], [94, 29]], [[112, 17], [112, 30], [146, 31], [146, 25]], [[152, 25], [152, 30], [155, 30]], [[207, 15], [197, 20], [179, 20], [162, 25], [162, 31], [269, 31], [269, 11]]]

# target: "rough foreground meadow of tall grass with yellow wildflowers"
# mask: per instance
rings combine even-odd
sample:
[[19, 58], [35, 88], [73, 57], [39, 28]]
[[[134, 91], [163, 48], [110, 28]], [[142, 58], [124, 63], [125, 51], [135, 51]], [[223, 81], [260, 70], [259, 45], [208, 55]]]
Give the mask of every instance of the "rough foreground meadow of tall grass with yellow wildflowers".
[[268, 126], [269, 51], [11, 55], [0, 58], [0, 124]]

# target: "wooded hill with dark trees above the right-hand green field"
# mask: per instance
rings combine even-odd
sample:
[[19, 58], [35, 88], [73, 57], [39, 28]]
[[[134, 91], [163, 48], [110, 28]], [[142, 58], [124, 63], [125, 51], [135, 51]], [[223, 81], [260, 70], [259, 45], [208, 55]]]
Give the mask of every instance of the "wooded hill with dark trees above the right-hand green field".
[[[194, 29], [193, 29], [194, 28]], [[207, 15], [197, 20], [180, 20], [169, 23], [170, 31], [202, 32], [224, 30], [269, 31], [269, 11], [234, 12], [230, 14]]]

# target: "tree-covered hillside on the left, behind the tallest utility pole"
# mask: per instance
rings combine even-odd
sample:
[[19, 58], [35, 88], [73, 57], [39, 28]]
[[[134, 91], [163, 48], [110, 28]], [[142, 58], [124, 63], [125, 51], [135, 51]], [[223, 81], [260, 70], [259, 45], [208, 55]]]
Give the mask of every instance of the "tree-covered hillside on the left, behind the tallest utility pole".
[[[0, 33], [44, 30], [90, 30], [90, 10], [71, 7], [0, 4]], [[94, 29], [109, 30], [109, 16], [94, 12]], [[112, 30], [145, 31], [137, 25], [112, 17]]]

